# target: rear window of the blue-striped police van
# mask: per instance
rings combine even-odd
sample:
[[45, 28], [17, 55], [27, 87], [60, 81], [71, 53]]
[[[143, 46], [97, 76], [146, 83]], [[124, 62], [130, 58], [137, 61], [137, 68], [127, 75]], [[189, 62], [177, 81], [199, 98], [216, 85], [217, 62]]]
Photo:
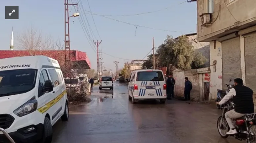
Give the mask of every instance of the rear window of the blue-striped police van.
[[164, 81], [164, 76], [160, 71], [138, 72], [136, 81]]

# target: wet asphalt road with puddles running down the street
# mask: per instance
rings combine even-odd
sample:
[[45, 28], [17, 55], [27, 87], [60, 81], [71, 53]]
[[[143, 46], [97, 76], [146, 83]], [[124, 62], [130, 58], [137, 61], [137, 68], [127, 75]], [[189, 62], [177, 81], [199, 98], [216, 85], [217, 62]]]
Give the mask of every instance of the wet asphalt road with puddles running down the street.
[[53, 143], [241, 143], [220, 137], [216, 122], [221, 112], [211, 104], [132, 104], [127, 91], [118, 82], [114, 92], [94, 87], [92, 102], [71, 107], [69, 121], [54, 125]]

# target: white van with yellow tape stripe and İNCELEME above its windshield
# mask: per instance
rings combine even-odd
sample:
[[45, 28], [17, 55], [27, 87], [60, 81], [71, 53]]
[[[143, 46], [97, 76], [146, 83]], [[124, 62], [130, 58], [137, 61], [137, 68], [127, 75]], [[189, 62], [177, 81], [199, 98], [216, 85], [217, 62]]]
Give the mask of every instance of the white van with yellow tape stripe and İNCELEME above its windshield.
[[50, 143], [52, 126], [69, 118], [58, 61], [46, 56], [0, 59], [0, 109], [0, 142]]

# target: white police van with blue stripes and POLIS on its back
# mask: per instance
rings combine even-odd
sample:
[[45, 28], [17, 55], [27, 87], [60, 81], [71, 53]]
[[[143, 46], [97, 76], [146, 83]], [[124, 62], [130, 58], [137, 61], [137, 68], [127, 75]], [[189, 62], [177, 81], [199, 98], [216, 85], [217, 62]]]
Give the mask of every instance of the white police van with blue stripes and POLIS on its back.
[[139, 99], [159, 99], [166, 101], [166, 83], [161, 70], [136, 70], [128, 79], [128, 95], [132, 103]]

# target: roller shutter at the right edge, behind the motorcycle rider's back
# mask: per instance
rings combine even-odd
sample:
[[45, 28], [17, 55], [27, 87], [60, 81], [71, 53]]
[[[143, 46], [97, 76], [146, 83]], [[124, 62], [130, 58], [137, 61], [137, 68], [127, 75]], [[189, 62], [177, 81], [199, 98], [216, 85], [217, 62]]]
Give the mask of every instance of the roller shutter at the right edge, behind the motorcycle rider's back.
[[256, 32], [244, 35], [246, 86], [256, 93]]

